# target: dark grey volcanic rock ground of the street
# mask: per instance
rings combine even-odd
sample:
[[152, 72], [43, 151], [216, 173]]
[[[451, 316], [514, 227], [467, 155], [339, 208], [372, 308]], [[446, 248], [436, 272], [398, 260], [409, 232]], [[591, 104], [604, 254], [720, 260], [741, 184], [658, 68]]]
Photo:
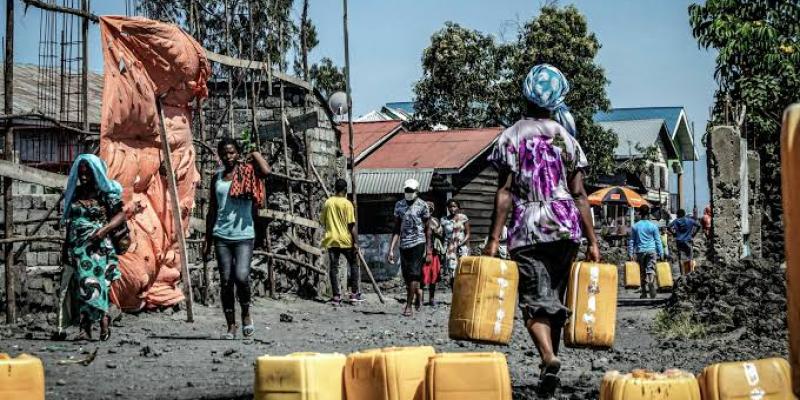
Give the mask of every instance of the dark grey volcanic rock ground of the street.
[[[439, 352], [505, 353], [514, 398], [537, 399], [538, 356], [521, 321], [515, 323], [509, 346], [452, 341], [447, 337], [450, 295], [442, 292], [439, 296], [445, 304], [423, 308], [412, 318], [400, 315], [403, 305], [398, 290], [387, 293], [385, 305], [374, 295], [365, 303], [340, 307], [289, 295], [280, 300], [257, 299], [255, 339], [233, 341], [218, 339], [224, 328], [219, 307], [196, 305], [192, 324], [184, 322], [183, 311], [125, 314], [108, 342], [48, 340], [46, 322], [37, 319], [43, 316], [33, 316], [15, 328], [0, 327], [0, 351], [41, 357], [48, 399], [249, 399], [253, 362], [260, 355], [346, 354], [384, 346], [432, 345]], [[611, 369], [676, 367], [697, 373], [713, 362], [788, 354], [785, 332], [775, 333], [770, 344], [763, 346], [745, 328], [703, 340], [660, 339], [652, 333], [652, 325], [663, 302], [641, 304], [635, 292], [624, 289], [620, 299], [614, 349], [562, 350], [562, 388], [557, 399], [596, 399], [600, 379]], [[88, 366], [58, 363], [87, 357], [95, 350], [96, 359]]]

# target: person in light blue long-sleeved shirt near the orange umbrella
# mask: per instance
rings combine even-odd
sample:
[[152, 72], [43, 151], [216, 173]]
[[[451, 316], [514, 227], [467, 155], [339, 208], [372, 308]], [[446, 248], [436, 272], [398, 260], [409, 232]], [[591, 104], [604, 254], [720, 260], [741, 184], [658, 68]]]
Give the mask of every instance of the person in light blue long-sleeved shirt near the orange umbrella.
[[628, 255], [631, 261], [639, 263], [642, 281], [640, 298], [656, 298], [656, 261], [664, 257], [664, 246], [661, 245], [661, 234], [658, 225], [650, 220], [650, 207], [639, 208], [639, 222], [633, 225], [628, 239]]

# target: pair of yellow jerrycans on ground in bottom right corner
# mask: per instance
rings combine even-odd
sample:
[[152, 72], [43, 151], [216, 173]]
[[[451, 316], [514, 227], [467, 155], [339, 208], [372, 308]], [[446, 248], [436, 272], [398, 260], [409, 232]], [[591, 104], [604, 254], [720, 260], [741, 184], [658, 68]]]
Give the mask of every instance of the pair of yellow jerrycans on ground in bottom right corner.
[[781, 358], [728, 362], [700, 375], [681, 370], [607, 372], [600, 400], [796, 400], [789, 363]]

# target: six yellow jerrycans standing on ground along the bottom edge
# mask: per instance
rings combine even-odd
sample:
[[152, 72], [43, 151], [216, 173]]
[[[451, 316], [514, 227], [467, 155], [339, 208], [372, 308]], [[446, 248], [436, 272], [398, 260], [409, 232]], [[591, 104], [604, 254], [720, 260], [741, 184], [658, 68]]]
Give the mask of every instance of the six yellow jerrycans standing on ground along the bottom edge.
[[[0, 398], [43, 400], [42, 362], [0, 353]], [[500, 353], [436, 354], [432, 347], [342, 354], [259, 357], [256, 400], [510, 400], [506, 358]], [[607, 372], [600, 400], [797, 400], [789, 363], [770, 358], [680, 370]]]

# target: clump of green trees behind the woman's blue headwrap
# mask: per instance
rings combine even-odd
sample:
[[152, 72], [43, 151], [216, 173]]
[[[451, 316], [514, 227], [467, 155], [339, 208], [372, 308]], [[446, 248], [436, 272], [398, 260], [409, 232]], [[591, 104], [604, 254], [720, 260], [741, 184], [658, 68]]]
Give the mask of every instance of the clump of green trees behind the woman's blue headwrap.
[[539, 63], [561, 69], [572, 85], [567, 96], [590, 176], [612, 173], [617, 136], [595, 125], [592, 116], [609, 107], [608, 80], [595, 63], [600, 42], [573, 6], [546, 5], [520, 27], [517, 38], [494, 38], [448, 22], [433, 34], [422, 55], [422, 78], [414, 87], [420, 125], [450, 127], [509, 124], [522, 115], [521, 83]]

